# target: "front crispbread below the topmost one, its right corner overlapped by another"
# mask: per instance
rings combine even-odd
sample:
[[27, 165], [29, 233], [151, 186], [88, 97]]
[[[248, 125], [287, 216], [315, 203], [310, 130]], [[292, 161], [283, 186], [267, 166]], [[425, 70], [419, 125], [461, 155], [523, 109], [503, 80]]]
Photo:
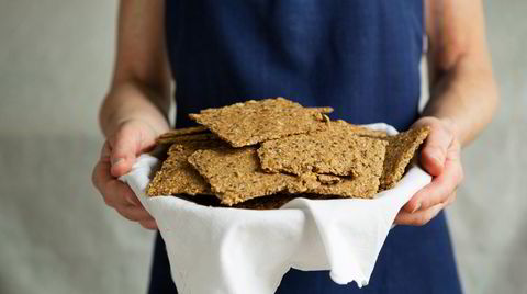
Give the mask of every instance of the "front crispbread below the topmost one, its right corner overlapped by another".
[[188, 160], [228, 206], [283, 191], [295, 181], [293, 176], [264, 172], [254, 147], [198, 150]]

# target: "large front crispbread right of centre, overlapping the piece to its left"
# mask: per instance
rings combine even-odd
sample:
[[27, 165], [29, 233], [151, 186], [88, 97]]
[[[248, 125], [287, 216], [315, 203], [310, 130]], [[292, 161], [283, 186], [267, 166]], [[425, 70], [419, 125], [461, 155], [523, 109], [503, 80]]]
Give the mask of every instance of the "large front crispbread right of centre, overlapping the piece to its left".
[[258, 149], [269, 172], [306, 172], [380, 177], [386, 142], [356, 136], [349, 124], [333, 123], [324, 131], [268, 140]]

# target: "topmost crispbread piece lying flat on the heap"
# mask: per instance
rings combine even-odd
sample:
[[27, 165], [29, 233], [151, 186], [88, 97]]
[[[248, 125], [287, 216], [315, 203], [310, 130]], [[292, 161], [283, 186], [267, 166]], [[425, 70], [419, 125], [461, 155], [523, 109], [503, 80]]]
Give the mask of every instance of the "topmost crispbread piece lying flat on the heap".
[[276, 98], [206, 109], [189, 116], [233, 147], [243, 147], [323, 129], [327, 124], [321, 122], [321, 112], [332, 111], [330, 108], [306, 109], [287, 99]]

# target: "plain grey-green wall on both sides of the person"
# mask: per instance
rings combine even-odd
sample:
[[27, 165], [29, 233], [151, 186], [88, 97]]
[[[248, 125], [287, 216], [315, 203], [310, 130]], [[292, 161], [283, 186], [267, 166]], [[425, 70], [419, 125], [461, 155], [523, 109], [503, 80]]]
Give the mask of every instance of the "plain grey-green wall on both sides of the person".
[[[448, 216], [467, 293], [527, 293], [527, 1], [485, 3], [502, 104]], [[90, 181], [116, 1], [0, 8], [0, 293], [144, 293], [153, 233]]]

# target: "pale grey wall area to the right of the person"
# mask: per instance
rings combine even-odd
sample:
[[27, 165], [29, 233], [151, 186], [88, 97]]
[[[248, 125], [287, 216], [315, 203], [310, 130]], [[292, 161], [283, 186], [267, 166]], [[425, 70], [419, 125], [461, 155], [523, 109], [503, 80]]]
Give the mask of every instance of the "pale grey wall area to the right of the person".
[[468, 293], [527, 293], [527, 1], [485, 2], [502, 104], [463, 152], [450, 224]]

